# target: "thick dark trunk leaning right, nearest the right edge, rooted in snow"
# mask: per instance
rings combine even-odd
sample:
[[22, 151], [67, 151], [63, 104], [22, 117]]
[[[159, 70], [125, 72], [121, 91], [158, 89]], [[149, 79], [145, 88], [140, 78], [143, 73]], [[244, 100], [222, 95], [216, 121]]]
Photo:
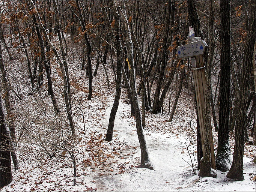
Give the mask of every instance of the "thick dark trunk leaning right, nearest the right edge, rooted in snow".
[[250, 75], [252, 73], [253, 49], [255, 43], [255, 1], [250, 1], [250, 20], [247, 38], [245, 42], [246, 49], [244, 50], [242, 78], [239, 92], [239, 113], [235, 127], [235, 148], [231, 168], [227, 173], [228, 178], [242, 181], [243, 175], [243, 156], [244, 156], [244, 129], [246, 129], [246, 105], [248, 100], [248, 91], [250, 84]]

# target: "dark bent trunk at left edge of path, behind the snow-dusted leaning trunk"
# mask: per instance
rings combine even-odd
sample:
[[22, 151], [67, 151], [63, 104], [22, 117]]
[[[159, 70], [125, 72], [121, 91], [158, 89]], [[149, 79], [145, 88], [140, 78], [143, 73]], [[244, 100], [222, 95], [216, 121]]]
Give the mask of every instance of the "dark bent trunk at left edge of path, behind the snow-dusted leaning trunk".
[[113, 137], [114, 119], [119, 105], [121, 90], [122, 90], [122, 45], [120, 42], [120, 18], [119, 14], [116, 14], [116, 54], [117, 54], [117, 71], [116, 71], [116, 96], [114, 98], [114, 104], [110, 112], [108, 130], [106, 135], [106, 141], [111, 141]]

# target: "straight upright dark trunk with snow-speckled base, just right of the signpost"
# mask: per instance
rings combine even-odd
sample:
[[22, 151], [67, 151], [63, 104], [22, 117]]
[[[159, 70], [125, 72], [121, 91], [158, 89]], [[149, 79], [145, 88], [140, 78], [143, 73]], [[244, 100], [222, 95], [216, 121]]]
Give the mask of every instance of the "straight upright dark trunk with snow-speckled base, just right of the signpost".
[[216, 168], [226, 172], [230, 168], [229, 104], [230, 104], [230, 1], [220, 1], [220, 110]]

